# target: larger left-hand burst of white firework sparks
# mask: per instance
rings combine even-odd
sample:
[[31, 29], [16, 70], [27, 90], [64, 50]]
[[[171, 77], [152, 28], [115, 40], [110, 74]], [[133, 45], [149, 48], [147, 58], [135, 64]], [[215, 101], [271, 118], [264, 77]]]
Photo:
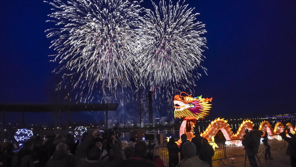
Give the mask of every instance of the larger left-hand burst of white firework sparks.
[[[142, 9], [137, 1], [128, 0], [68, 0], [49, 2], [54, 12], [49, 15], [57, 28], [53, 37], [54, 61], [70, 69], [78, 79], [75, 87], [115, 93], [131, 85], [137, 55]], [[122, 89], [121, 89], [122, 90]], [[82, 95], [82, 94], [81, 94]]]

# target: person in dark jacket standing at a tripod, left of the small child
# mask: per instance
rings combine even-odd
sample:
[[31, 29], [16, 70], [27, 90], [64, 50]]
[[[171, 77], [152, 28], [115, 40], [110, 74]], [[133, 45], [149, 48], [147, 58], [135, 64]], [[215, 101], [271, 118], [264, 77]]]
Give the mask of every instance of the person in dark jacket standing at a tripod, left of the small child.
[[255, 156], [258, 153], [261, 135], [263, 131], [260, 131], [258, 126], [253, 126], [252, 131], [245, 131], [246, 134], [243, 136], [242, 144], [245, 147], [246, 155], [250, 161], [252, 167], [258, 167]]

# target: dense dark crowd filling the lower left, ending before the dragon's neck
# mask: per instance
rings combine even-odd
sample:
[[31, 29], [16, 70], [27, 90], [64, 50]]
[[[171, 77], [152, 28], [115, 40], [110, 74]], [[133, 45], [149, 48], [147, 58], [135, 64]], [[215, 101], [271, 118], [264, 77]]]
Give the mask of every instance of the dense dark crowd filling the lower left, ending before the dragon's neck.
[[148, 151], [145, 142], [135, 143], [131, 138], [125, 148], [116, 131], [103, 135], [96, 129], [92, 134], [84, 133], [81, 142], [67, 134], [66, 138], [52, 135], [45, 140], [30, 137], [21, 149], [11, 142], [0, 146], [0, 167], [164, 167], [157, 152]]

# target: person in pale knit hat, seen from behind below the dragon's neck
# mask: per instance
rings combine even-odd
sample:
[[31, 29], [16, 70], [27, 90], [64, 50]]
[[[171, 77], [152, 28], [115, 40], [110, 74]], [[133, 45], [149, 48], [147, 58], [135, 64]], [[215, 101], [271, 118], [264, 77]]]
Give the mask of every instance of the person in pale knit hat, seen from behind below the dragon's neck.
[[195, 145], [192, 142], [185, 142], [183, 144], [182, 148], [183, 154], [184, 154], [184, 159], [179, 162], [177, 167], [195, 167], [195, 166], [200, 166], [200, 167], [210, 167], [210, 165], [205, 162], [200, 160], [195, 154], [196, 154], [196, 148]]

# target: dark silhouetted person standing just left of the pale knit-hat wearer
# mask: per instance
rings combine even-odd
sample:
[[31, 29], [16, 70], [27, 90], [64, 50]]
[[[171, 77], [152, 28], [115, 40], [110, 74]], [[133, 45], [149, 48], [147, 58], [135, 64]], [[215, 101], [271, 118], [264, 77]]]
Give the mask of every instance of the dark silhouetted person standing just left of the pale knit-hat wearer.
[[179, 163], [179, 146], [175, 143], [175, 139], [172, 137], [168, 141], [168, 166], [175, 167]]

